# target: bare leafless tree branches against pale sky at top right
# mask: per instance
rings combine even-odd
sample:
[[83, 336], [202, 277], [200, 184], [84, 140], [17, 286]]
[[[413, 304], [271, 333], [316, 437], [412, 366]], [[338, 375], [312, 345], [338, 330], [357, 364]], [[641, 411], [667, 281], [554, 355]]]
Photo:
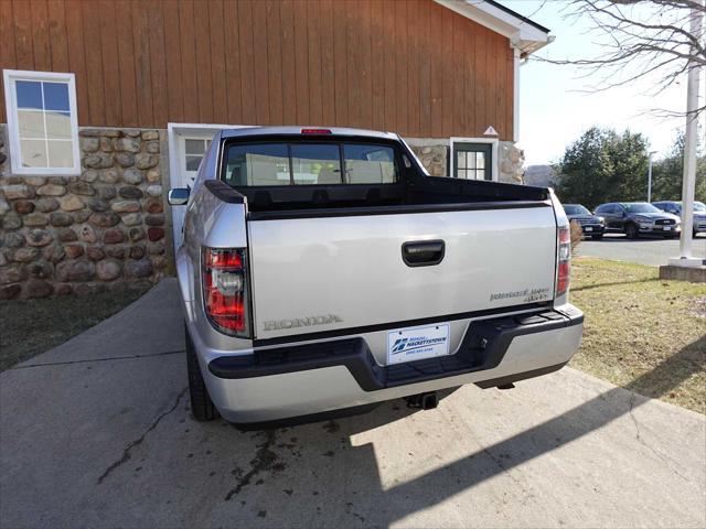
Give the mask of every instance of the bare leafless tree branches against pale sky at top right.
[[[685, 78], [689, 68], [706, 66], [703, 23], [696, 33], [691, 29], [694, 11], [703, 21], [706, 8], [699, 0], [570, 0], [564, 17], [588, 19], [602, 52], [593, 57], [537, 60], [584, 68], [586, 78], [593, 79], [590, 91], [650, 78], [656, 95]], [[704, 111], [706, 105], [697, 109]]]

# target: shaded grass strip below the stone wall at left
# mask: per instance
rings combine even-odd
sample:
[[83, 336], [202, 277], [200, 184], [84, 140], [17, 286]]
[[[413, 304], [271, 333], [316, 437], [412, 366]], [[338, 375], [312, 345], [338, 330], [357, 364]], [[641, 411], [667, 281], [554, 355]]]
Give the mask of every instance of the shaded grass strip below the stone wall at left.
[[0, 371], [63, 344], [139, 299], [146, 290], [0, 302]]

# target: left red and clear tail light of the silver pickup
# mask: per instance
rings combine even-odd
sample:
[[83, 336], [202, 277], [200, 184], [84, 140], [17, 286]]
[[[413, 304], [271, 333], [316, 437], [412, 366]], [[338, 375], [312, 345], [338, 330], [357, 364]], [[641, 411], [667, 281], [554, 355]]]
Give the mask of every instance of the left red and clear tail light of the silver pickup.
[[247, 272], [244, 249], [203, 249], [203, 301], [216, 330], [248, 335]]

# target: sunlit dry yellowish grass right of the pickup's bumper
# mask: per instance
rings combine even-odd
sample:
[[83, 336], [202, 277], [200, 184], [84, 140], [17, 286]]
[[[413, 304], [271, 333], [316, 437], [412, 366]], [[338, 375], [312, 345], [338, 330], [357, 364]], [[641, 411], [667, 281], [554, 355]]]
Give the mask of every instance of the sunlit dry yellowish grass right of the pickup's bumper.
[[706, 413], [706, 284], [663, 281], [654, 267], [578, 258], [570, 299], [586, 313], [573, 367]]

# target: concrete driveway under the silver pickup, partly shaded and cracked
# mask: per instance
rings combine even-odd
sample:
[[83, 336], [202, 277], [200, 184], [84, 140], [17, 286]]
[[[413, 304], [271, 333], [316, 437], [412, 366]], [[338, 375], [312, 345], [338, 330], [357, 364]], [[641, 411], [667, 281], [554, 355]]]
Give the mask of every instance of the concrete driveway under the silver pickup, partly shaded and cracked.
[[1, 527], [706, 525], [704, 415], [569, 368], [434, 411], [196, 423], [176, 295], [0, 375]]

